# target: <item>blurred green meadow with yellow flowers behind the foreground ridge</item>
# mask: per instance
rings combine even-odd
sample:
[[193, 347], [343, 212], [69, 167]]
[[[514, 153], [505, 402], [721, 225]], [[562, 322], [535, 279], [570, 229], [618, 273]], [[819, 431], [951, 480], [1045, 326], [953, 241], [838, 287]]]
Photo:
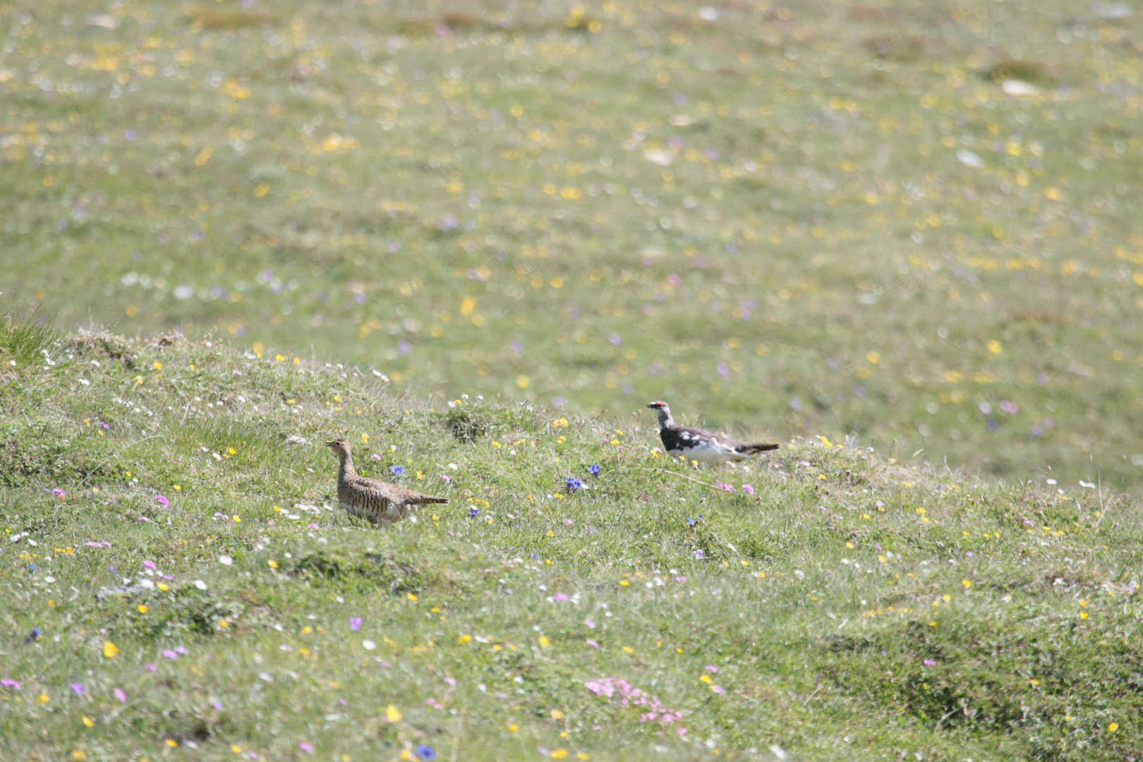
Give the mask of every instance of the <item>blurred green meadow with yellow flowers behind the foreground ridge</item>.
[[1136, 10], [3, 1], [0, 312], [1135, 489]]

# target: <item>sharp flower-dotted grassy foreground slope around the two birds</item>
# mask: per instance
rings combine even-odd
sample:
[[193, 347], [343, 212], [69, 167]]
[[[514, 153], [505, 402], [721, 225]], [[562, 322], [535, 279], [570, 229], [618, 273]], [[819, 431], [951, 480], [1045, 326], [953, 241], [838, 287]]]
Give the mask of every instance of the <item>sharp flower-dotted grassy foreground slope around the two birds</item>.
[[[649, 414], [430, 407], [218, 343], [11, 356], [5, 759], [1121, 760], [1143, 735], [1137, 502], [820, 440], [697, 472]], [[322, 510], [335, 433], [451, 503], [387, 532]], [[141, 579], [165, 587], [97, 597]]]

